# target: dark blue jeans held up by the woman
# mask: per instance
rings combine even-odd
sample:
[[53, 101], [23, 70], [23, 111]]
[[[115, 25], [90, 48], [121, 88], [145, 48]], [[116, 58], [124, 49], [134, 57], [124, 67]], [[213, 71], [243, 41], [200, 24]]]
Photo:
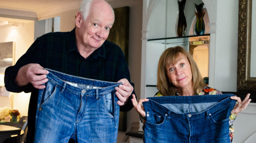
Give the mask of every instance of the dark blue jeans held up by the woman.
[[163, 96], [143, 102], [144, 143], [230, 143], [232, 94]]

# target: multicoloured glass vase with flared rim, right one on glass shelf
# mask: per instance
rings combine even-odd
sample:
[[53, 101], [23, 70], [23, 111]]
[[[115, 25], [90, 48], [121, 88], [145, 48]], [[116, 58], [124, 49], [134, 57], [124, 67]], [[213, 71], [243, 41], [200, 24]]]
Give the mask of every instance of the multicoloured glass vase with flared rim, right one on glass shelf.
[[196, 24], [194, 27], [194, 35], [202, 35], [204, 34], [205, 31], [205, 25], [204, 25], [204, 14], [205, 11], [203, 9], [204, 3], [201, 3], [199, 5], [196, 5], [196, 3], [194, 3], [195, 7], [196, 7]]

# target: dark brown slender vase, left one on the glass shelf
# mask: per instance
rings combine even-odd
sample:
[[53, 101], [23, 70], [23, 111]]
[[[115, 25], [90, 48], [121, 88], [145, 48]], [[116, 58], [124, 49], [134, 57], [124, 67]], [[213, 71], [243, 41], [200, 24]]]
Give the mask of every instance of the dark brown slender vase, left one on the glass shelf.
[[177, 37], [185, 36], [187, 32], [187, 21], [185, 18], [185, 3], [186, 0], [178, 0], [179, 5], [179, 13], [178, 13], [178, 21], [176, 22], [176, 34]]

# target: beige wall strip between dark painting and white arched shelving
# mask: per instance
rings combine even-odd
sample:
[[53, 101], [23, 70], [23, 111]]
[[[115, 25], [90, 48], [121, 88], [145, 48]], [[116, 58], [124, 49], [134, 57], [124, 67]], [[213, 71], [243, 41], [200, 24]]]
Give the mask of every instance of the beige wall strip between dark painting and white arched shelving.
[[[142, 0], [113, 0], [112, 8], [130, 7], [129, 27], [129, 71], [131, 82], [135, 84], [137, 99], [140, 99], [141, 37], [142, 37]], [[127, 127], [132, 122], [139, 122], [139, 114], [134, 108], [127, 113]]]

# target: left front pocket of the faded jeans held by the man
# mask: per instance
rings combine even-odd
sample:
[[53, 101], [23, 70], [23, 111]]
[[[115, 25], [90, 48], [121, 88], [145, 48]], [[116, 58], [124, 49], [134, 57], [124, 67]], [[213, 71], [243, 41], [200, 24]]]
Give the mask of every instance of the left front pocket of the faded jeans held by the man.
[[[40, 106], [46, 105], [49, 102], [53, 102], [54, 100], [56, 100], [55, 98], [58, 98], [57, 101], [59, 101], [59, 94], [60, 91], [58, 90], [57, 86], [51, 83], [47, 83], [46, 88], [41, 97]], [[55, 103], [55, 105], [57, 106], [57, 103]]]

